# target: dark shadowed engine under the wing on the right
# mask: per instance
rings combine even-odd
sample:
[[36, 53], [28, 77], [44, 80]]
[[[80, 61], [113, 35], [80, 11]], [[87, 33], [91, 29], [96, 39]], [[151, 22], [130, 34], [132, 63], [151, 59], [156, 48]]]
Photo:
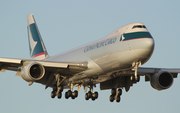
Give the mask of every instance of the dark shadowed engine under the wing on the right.
[[157, 90], [168, 89], [173, 84], [173, 75], [166, 71], [160, 71], [151, 76], [151, 86]]

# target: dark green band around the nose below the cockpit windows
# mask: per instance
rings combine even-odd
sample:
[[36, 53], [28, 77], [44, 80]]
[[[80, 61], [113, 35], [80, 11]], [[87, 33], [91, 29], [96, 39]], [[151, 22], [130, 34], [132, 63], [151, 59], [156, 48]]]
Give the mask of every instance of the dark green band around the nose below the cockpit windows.
[[152, 38], [151, 34], [149, 32], [133, 32], [133, 33], [125, 33], [123, 34], [124, 40], [133, 40], [138, 38]]

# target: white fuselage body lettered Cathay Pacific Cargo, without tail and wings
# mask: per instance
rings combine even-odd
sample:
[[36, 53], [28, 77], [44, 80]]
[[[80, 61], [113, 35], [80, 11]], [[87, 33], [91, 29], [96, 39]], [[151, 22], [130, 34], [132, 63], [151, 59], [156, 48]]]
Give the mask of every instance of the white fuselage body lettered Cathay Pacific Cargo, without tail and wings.
[[116, 70], [130, 68], [135, 62], [144, 64], [153, 53], [154, 40], [146, 28], [133, 28], [136, 25], [143, 26], [142, 23], [128, 24], [103, 39], [50, 57], [46, 61], [87, 61], [88, 69], [72, 77], [71, 81], [111, 74]]

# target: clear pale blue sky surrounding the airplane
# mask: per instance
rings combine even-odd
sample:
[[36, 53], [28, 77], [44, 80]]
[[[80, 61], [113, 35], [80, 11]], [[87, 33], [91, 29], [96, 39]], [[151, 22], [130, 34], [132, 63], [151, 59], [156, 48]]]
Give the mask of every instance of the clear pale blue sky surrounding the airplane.
[[[29, 59], [26, 16], [33, 13], [50, 56], [103, 38], [133, 22], [146, 25], [155, 40], [152, 58], [143, 67], [180, 68], [180, 1], [178, 0], [1, 0], [0, 57]], [[86, 101], [51, 99], [51, 88], [28, 83], [15, 72], [0, 73], [0, 112], [16, 113], [179, 113], [180, 77], [171, 88], [153, 89], [144, 77], [110, 103], [110, 90]]]

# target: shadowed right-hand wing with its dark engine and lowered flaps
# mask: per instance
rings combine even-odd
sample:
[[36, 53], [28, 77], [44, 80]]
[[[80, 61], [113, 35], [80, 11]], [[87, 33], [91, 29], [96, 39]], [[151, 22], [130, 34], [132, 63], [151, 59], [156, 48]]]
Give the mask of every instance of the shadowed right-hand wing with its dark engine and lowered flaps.
[[[137, 75], [140, 80], [140, 76], [145, 76], [145, 81], [150, 81], [151, 86], [157, 90], [163, 90], [171, 87], [173, 84], [173, 78], [177, 78], [178, 73], [180, 73], [180, 68], [147, 68], [139, 67], [137, 70]], [[100, 83], [100, 89], [112, 89], [113, 87], [125, 88], [129, 91], [133, 84], [138, 81], [134, 81], [133, 70], [120, 71], [119, 73], [112, 74], [110, 80]]]

